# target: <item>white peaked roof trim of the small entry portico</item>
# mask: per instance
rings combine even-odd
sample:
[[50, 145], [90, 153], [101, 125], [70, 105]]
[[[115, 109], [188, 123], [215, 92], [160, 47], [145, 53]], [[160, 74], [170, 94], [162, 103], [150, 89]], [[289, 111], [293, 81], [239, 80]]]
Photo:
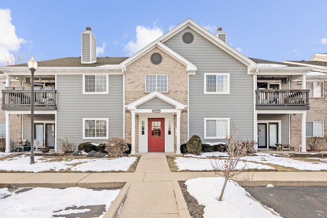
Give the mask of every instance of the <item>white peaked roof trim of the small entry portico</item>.
[[126, 108], [128, 110], [135, 110], [137, 106], [142, 105], [143, 103], [145, 103], [153, 98], [158, 98], [162, 101], [165, 101], [165, 102], [175, 106], [176, 109], [184, 109], [185, 108], [185, 105], [181, 104], [180, 102], [177, 102], [174, 99], [169, 98], [167, 95], [162, 94], [158, 91], [153, 91], [150, 94], [143, 96], [141, 99], [138, 99], [135, 102], [132, 102], [129, 105], [127, 105]]

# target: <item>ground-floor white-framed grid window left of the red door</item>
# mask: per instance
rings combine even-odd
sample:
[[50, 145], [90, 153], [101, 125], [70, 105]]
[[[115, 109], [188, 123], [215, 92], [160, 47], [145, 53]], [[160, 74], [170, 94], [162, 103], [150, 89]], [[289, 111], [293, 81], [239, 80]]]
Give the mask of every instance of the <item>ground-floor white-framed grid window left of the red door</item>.
[[108, 118], [83, 118], [83, 139], [108, 139]]

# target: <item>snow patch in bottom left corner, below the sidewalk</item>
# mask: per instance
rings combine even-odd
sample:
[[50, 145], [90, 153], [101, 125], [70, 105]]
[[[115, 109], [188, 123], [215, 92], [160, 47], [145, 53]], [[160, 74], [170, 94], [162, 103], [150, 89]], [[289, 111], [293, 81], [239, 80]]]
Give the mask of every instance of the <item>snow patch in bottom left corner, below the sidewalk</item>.
[[[69, 209], [73, 206], [106, 205], [108, 210], [111, 202], [118, 196], [120, 189], [92, 190], [88, 188], [32, 188], [15, 193], [8, 188], [0, 189], [1, 217], [43, 218], [54, 215], [86, 212], [90, 209]], [[57, 211], [57, 212], [55, 212]], [[103, 217], [104, 214], [98, 216]], [[63, 217], [61, 216], [61, 217]]]

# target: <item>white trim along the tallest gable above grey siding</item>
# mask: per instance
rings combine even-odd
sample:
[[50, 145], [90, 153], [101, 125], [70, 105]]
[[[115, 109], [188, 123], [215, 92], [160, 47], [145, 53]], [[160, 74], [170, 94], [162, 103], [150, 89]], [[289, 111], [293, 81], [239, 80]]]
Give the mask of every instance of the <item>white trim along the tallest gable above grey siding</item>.
[[223, 42], [220, 40], [217, 36], [212, 34], [211, 32], [207, 31], [205, 28], [202, 26], [198, 25], [195, 21], [192, 19], [188, 18], [184, 22], [180, 23], [180, 25], [176, 26], [172, 30], [170, 30], [168, 33], [164, 34], [160, 38], [158, 38], [158, 41], [161, 41], [162, 43], [165, 43], [168, 39], [170, 39], [172, 36], [176, 35], [179, 33], [182, 29], [190, 27], [193, 30], [195, 30], [198, 34], [206, 38], [207, 40], [211, 41], [213, 44], [217, 45], [220, 49], [225, 51], [227, 54], [231, 55], [232, 57], [236, 58], [239, 60], [241, 63], [245, 64], [247, 66], [247, 71], [248, 74], [251, 71], [251, 68], [256, 66], [257, 64], [249, 59], [248, 57], [244, 56], [242, 53], [228, 45], [226, 42]]

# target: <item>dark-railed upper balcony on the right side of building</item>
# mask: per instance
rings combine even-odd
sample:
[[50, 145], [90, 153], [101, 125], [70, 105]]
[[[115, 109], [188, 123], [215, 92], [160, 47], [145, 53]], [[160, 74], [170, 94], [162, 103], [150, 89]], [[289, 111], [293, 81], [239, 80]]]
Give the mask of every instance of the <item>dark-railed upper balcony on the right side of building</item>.
[[257, 110], [309, 110], [309, 90], [255, 90]]

